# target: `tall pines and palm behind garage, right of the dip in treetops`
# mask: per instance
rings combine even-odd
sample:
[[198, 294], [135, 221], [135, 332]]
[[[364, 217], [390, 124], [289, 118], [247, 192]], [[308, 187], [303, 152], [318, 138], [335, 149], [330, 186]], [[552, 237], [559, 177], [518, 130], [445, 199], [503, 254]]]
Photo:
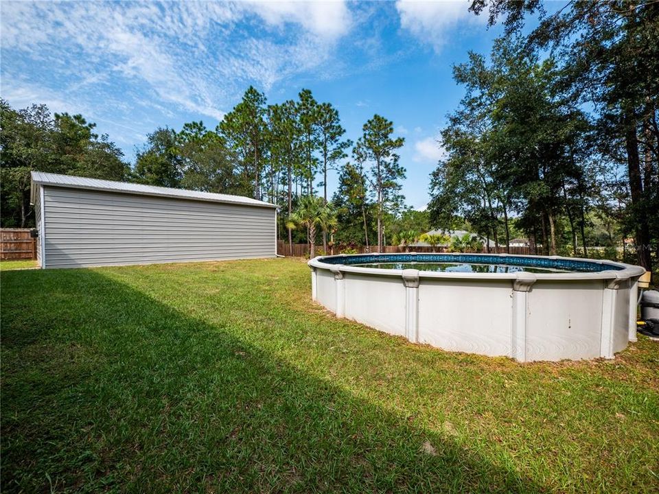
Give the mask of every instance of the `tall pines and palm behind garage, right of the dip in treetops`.
[[[213, 130], [192, 122], [180, 132], [159, 128], [150, 134], [132, 178], [279, 204], [279, 228], [289, 244], [309, 242], [314, 250], [318, 227], [325, 251], [333, 233], [345, 244], [369, 245], [375, 235], [382, 248], [385, 222], [404, 208], [405, 169], [397, 154], [404, 139], [394, 137], [393, 122], [380, 115], [362, 131], [356, 143], [346, 139], [338, 110], [317, 102], [309, 89], [296, 100], [268, 104], [250, 86]], [[332, 171], [340, 185], [330, 198]]]

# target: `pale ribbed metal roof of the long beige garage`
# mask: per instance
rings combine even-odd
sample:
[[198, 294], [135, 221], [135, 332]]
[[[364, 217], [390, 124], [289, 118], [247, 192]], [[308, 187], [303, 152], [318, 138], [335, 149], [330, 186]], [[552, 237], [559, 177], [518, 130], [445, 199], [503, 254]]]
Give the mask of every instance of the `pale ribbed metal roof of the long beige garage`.
[[200, 192], [187, 189], [172, 189], [170, 187], [157, 187], [155, 185], [143, 185], [128, 182], [116, 182], [115, 180], [100, 180], [99, 178], [85, 178], [73, 175], [49, 174], [44, 172], [32, 172], [32, 203], [36, 198], [39, 185], [49, 187], [67, 187], [68, 189], [87, 189], [97, 191], [130, 193], [141, 196], [159, 196], [176, 199], [200, 200], [207, 202], [225, 202], [229, 204], [241, 204], [243, 206], [271, 207], [275, 204], [259, 201], [243, 196], [231, 196], [214, 192]]

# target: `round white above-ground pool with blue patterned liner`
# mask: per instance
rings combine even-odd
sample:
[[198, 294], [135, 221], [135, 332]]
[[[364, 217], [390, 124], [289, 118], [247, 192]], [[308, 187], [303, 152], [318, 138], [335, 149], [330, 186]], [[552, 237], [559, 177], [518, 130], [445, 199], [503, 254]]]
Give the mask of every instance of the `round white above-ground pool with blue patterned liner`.
[[316, 257], [312, 297], [345, 317], [449, 351], [534, 360], [613, 358], [636, 341], [639, 266], [569, 257]]

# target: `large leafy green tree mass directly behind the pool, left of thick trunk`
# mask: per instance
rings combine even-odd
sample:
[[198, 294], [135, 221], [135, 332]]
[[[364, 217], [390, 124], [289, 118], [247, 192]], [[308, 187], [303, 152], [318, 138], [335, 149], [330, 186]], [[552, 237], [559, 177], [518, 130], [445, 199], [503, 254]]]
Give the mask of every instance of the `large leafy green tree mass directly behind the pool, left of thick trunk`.
[[558, 218], [566, 216], [574, 245], [577, 232], [585, 245], [593, 166], [586, 115], [556, 89], [552, 58], [540, 62], [506, 39], [495, 43], [491, 58], [488, 65], [470, 54], [454, 69], [467, 94], [442, 131], [448, 157], [432, 174], [433, 224], [448, 229], [462, 215], [497, 243], [502, 224], [501, 243], [509, 245], [514, 213], [518, 226], [555, 255]]

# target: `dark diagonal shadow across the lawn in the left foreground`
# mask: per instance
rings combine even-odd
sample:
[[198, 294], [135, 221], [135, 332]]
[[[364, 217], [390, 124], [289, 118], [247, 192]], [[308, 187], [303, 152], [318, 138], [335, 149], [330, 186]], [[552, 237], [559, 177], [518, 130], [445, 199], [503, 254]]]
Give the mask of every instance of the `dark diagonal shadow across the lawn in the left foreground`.
[[5, 273], [2, 309], [3, 492], [543, 490], [102, 272]]

